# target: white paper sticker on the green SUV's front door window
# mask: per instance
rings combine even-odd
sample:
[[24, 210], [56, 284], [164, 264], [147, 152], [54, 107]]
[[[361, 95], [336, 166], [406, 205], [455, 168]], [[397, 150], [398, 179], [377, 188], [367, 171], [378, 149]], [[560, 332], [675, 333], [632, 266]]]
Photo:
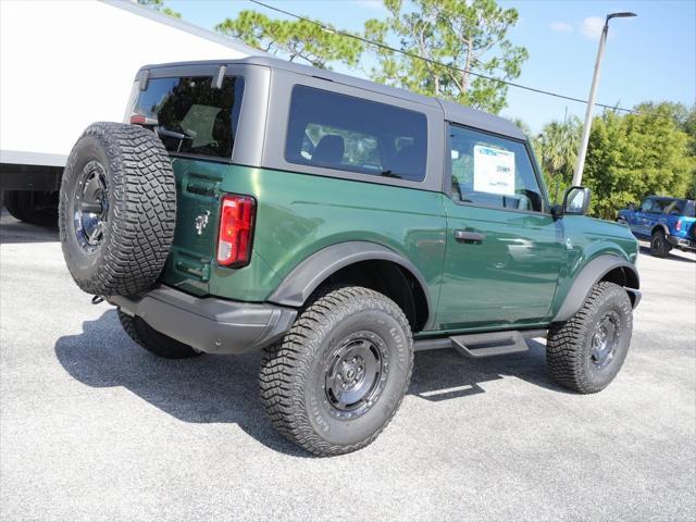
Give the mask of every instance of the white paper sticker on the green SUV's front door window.
[[514, 195], [514, 152], [483, 145], [474, 147], [474, 190]]

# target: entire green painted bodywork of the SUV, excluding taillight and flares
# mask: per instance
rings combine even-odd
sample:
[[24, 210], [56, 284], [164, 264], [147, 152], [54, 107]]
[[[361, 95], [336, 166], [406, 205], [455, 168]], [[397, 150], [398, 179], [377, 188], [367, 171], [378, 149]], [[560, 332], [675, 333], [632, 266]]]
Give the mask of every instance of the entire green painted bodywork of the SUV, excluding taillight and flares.
[[[458, 204], [442, 192], [211, 161], [175, 158], [173, 165], [177, 228], [162, 281], [197, 296], [264, 301], [312, 253], [372, 241], [423, 276], [434, 320], [420, 336], [537, 327], [588, 261], [637, 254], [625, 226], [583, 216], [555, 220]], [[214, 262], [224, 194], [257, 200], [251, 262], [241, 269]], [[486, 237], [461, 243], [458, 229]]]

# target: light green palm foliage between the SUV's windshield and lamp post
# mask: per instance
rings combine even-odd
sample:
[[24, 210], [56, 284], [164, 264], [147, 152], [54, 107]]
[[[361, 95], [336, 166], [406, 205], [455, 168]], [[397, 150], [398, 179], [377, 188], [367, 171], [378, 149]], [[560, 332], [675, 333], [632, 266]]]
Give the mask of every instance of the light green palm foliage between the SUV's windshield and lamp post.
[[547, 123], [534, 139], [546, 186], [556, 200], [573, 181], [581, 134], [582, 122], [572, 116], [563, 122]]

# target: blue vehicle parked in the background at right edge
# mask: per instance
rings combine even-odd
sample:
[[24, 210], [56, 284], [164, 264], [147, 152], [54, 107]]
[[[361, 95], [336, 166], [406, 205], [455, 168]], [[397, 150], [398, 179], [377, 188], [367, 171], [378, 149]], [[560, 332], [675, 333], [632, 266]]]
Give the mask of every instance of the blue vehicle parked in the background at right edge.
[[619, 223], [650, 240], [650, 253], [664, 258], [672, 248], [696, 250], [696, 204], [691, 199], [648, 196], [641, 207], [620, 210]]

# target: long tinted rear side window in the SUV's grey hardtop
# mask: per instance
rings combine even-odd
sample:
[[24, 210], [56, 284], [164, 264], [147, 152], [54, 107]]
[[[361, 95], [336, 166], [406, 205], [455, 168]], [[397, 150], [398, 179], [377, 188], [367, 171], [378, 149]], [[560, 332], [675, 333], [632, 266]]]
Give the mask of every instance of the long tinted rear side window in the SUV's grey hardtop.
[[297, 85], [285, 142], [289, 163], [423, 181], [425, 114]]

